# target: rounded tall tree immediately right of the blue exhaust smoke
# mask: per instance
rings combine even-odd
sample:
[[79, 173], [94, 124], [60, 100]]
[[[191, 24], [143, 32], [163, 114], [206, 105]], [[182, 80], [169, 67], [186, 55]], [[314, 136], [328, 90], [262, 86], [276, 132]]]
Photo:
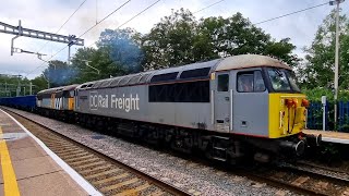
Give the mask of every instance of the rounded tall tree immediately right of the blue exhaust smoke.
[[151, 33], [143, 37], [145, 70], [195, 62], [193, 46], [196, 27], [196, 21], [188, 10], [181, 9], [161, 19]]

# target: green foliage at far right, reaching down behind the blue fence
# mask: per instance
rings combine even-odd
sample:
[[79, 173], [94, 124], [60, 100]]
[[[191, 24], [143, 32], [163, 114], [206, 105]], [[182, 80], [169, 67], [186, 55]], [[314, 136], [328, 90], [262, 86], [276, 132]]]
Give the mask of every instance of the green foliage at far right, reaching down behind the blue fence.
[[[326, 96], [328, 107], [328, 128], [348, 132], [348, 114], [341, 113], [334, 122], [334, 70], [335, 70], [335, 35], [336, 35], [336, 11], [333, 10], [323, 24], [318, 27], [315, 38], [309, 48], [305, 48], [305, 63], [299, 66], [300, 84], [303, 93], [311, 102], [321, 102], [321, 97]], [[339, 90], [338, 101], [349, 101], [349, 19], [339, 16]], [[339, 109], [339, 108], [338, 108]], [[322, 111], [314, 111], [315, 118], [321, 122]], [[330, 151], [330, 150], [329, 150]], [[325, 149], [325, 152], [328, 152]]]

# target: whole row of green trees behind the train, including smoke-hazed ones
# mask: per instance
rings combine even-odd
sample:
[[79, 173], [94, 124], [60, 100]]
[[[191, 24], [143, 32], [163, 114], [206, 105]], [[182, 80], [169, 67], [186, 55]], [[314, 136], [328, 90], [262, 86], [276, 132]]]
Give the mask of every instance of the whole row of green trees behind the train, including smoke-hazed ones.
[[241, 13], [196, 20], [180, 9], [146, 35], [131, 28], [105, 29], [97, 49], [80, 48], [71, 65], [52, 61], [43, 76], [52, 87], [244, 53], [274, 56], [294, 65], [294, 48], [289, 38], [272, 39]]

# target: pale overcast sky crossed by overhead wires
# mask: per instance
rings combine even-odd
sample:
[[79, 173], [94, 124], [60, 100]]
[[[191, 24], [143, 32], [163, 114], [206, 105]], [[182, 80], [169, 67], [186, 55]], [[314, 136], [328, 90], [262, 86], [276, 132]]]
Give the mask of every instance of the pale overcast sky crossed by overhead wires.
[[[56, 33], [83, 1], [84, 0], [2, 0], [0, 22], [16, 26], [19, 20], [21, 20], [22, 26], [25, 28]], [[80, 36], [96, 24], [96, 21], [101, 20], [127, 1], [128, 0], [86, 0], [59, 34]], [[130, 3], [100, 23], [88, 34], [84, 35], [82, 38], [85, 40], [85, 46], [95, 42], [100, 32], [105, 28], [117, 28], [120, 24], [155, 1], [156, 0], [131, 0]], [[145, 34], [148, 33], [153, 25], [158, 23], [163, 16], [171, 14], [171, 9], [178, 10], [184, 8], [195, 12], [219, 0], [160, 0], [153, 8], [123, 27], [132, 27]], [[197, 19], [207, 16], [227, 17], [237, 12], [241, 12], [242, 15], [249, 17], [252, 23], [257, 23], [325, 2], [328, 1], [225, 0], [194, 15]], [[342, 13], [348, 15], [348, 1], [345, 1], [340, 5]], [[291, 42], [297, 46], [294, 52], [303, 57], [302, 47], [311, 45], [318, 25], [334, 8], [335, 7], [323, 5], [257, 26], [262, 27], [277, 40], [290, 37]], [[36, 56], [26, 53], [10, 54], [12, 37], [14, 36], [0, 33], [0, 74], [21, 74], [28, 78], [40, 75], [47, 64], [38, 60]], [[20, 37], [15, 39], [14, 47], [34, 52], [39, 51], [40, 53], [48, 54], [45, 57], [48, 59], [65, 46], [64, 44], [46, 42], [46, 40]], [[76, 51], [76, 48], [79, 47], [72, 47], [72, 54]], [[68, 49], [62, 50], [53, 59], [67, 61]]]

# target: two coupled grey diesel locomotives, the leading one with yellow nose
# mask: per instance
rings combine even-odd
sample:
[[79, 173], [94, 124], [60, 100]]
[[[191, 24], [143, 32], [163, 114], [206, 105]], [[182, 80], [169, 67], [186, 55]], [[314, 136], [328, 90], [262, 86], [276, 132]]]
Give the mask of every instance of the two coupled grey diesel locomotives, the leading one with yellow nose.
[[268, 162], [318, 146], [291, 68], [265, 56], [207, 62], [50, 88], [41, 114], [208, 158]]

